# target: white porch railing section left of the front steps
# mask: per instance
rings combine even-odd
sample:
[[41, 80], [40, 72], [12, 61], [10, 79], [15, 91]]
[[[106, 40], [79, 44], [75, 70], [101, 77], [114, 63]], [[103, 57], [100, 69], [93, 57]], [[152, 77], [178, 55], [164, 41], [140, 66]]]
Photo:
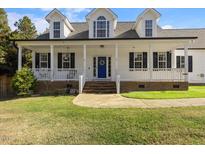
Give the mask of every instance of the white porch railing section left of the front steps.
[[36, 68], [33, 73], [37, 80], [78, 80], [76, 69], [57, 69], [51, 74], [51, 69]]

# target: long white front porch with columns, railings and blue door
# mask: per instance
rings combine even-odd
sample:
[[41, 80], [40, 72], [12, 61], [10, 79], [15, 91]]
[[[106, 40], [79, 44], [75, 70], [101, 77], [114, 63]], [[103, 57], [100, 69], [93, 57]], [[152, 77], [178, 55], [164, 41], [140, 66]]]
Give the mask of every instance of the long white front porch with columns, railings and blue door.
[[[92, 40], [84, 43], [20, 41], [18, 68], [22, 67], [22, 48], [27, 48], [32, 50], [32, 71], [39, 81], [77, 81], [79, 93], [82, 93], [86, 81], [114, 81], [119, 93], [120, 83], [127, 81], [187, 83], [189, 43], [190, 39], [186, 38]], [[176, 68], [174, 51], [181, 46], [184, 46], [185, 67]], [[135, 57], [130, 57], [130, 53]], [[157, 62], [154, 59], [155, 53], [158, 54]], [[133, 64], [130, 64], [131, 60]]]

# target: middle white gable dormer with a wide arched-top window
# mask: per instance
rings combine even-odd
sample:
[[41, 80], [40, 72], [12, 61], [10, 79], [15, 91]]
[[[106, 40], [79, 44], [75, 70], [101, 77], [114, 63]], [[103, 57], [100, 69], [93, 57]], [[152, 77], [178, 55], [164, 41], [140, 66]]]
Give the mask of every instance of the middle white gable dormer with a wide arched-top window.
[[87, 16], [89, 38], [112, 38], [117, 27], [117, 15], [110, 9], [93, 9]]

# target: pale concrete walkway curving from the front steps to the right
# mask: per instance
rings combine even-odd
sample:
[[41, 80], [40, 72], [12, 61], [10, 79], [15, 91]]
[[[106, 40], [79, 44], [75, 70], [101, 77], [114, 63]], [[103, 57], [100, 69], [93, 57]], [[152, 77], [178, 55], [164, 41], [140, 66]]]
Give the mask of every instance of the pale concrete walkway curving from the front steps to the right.
[[117, 94], [80, 94], [75, 105], [93, 108], [165, 108], [205, 106], [205, 98], [189, 99], [132, 99]]

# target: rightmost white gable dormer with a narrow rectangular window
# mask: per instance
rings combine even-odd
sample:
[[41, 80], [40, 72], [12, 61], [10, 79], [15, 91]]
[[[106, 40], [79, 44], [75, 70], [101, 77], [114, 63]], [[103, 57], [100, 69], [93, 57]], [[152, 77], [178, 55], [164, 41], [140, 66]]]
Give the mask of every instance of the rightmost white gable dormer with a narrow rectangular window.
[[157, 23], [160, 16], [155, 9], [145, 9], [138, 16], [133, 29], [140, 37], [157, 37]]

